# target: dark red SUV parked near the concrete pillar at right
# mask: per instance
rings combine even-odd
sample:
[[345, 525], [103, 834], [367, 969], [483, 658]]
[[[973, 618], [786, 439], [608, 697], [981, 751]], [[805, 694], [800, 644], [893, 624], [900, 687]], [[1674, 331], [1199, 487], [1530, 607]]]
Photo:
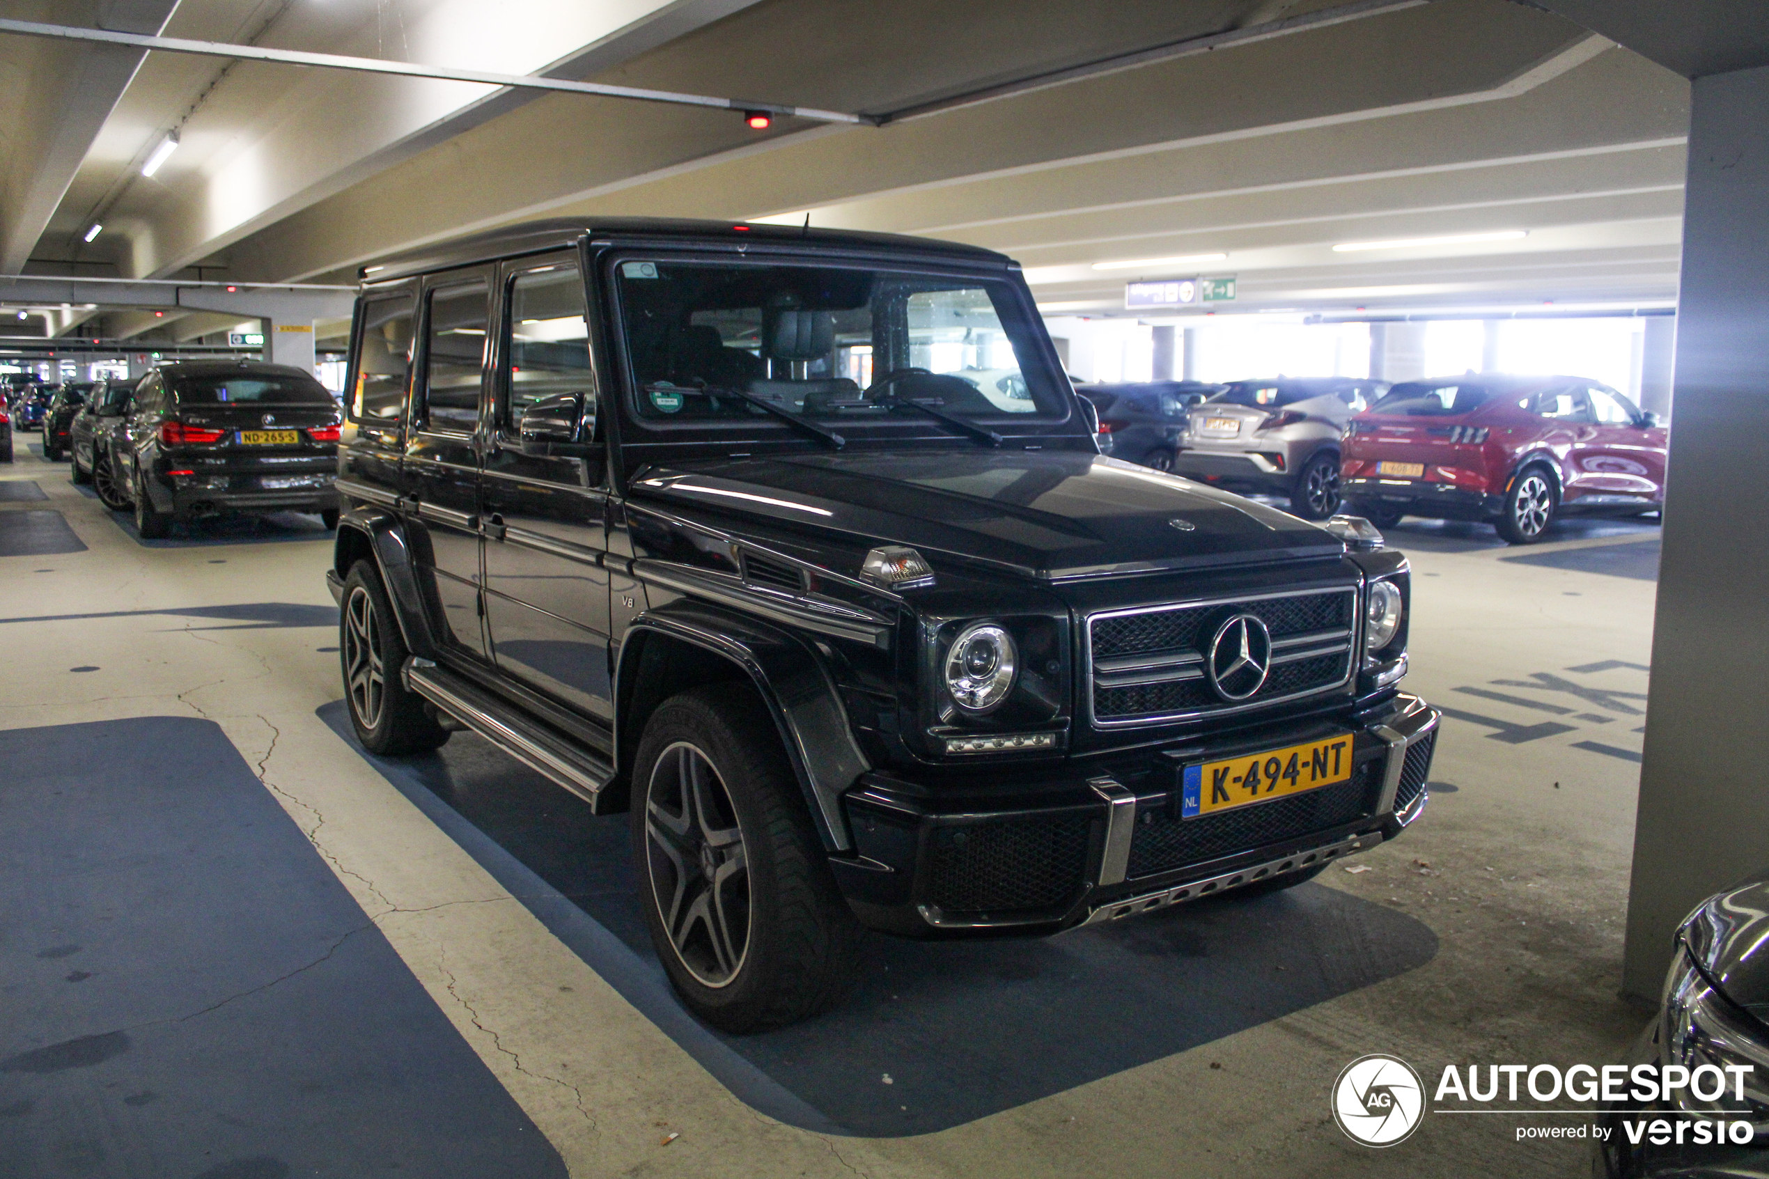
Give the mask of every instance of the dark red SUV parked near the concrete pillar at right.
[[1348, 426], [1344, 497], [1380, 529], [1491, 520], [1532, 544], [1560, 514], [1658, 511], [1666, 445], [1656, 414], [1583, 377], [1410, 380]]

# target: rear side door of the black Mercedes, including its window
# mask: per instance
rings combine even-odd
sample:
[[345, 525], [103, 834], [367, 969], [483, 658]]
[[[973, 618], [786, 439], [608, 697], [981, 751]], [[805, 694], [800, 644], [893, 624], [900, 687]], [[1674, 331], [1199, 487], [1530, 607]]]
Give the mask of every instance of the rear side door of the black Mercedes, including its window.
[[430, 279], [412, 392], [403, 486], [417, 500], [412, 557], [433, 592], [437, 628], [453, 654], [486, 658], [479, 564], [479, 410], [490, 274]]

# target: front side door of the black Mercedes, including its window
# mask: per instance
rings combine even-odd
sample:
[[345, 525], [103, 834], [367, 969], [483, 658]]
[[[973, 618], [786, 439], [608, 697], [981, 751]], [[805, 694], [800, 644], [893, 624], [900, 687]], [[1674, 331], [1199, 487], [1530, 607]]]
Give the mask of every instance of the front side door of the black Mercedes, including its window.
[[614, 718], [609, 675], [609, 493], [591, 458], [525, 454], [522, 414], [582, 394], [596, 437], [584, 279], [575, 255], [511, 263], [495, 378], [495, 438], [485, 463], [485, 603], [497, 668], [555, 700]]

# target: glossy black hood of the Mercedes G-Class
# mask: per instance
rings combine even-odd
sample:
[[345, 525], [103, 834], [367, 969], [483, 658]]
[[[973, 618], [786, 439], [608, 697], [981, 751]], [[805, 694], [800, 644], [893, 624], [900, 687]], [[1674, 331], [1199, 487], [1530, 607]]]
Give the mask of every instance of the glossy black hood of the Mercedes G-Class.
[[1344, 551], [1277, 509], [1079, 451], [745, 458], [649, 468], [630, 490], [1045, 580]]

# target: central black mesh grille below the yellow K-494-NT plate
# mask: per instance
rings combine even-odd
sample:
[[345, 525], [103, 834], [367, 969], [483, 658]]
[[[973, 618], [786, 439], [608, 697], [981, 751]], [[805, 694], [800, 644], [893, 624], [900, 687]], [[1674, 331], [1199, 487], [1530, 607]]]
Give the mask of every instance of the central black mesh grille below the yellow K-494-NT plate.
[[1375, 757], [1337, 787], [1203, 818], [1176, 818], [1166, 808], [1143, 811], [1136, 820], [1136, 834], [1130, 836], [1130, 875], [1146, 877], [1219, 856], [1251, 852], [1375, 815], [1383, 764], [1385, 758]]

